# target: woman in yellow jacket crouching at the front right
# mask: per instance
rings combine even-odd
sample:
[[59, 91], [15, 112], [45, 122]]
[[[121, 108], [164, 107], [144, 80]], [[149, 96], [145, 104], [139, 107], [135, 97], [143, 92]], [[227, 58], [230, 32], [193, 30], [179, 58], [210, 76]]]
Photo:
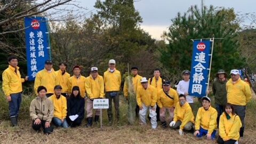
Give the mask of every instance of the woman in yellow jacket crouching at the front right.
[[234, 112], [234, 107], [227, 103], [224, 113], [220, 116], [218, 143], [236, 143], [239, 139], [241, 120]]

